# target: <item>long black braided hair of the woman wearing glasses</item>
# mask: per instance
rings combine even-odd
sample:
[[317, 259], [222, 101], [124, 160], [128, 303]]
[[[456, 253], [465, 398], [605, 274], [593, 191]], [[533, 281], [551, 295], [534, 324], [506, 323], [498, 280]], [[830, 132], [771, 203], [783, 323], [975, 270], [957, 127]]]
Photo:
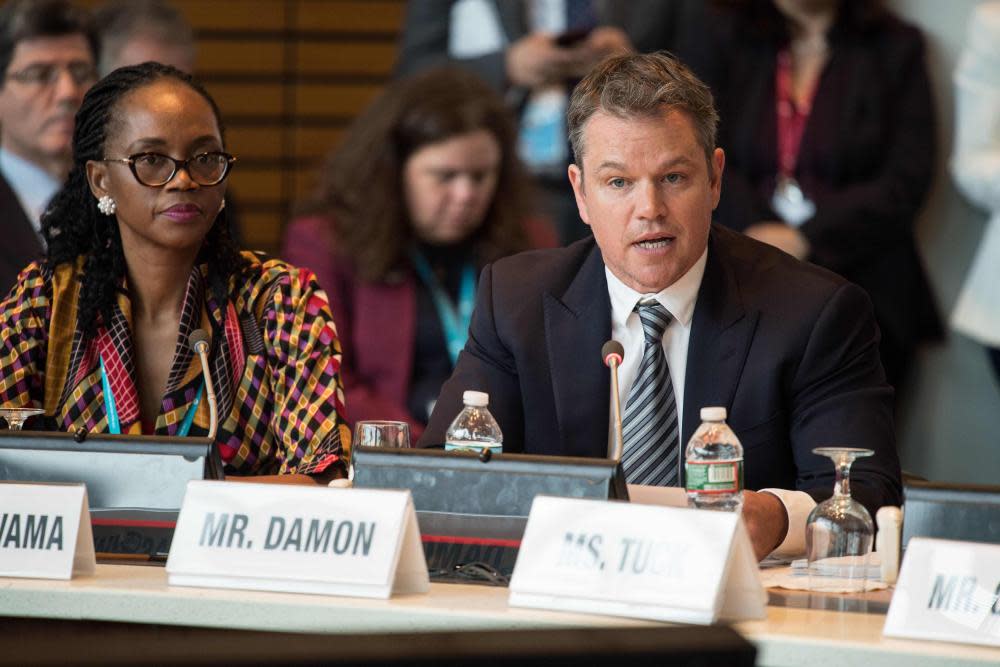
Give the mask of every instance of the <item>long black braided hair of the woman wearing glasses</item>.
[[[87, 162], [101, 160], [104, 146], [118, 120], [120, 102], [132, 91], [159, 79], [173, 78], [208, 102], [222, 133], [222, 116], [215, 100], [190, 75], [159, 63], [122, 67], [98, 81], [83, 98], [73, 131], [73, 166], [62, 189], [42, 215], [42, 233], [48, 244], [46, 264], [50, 269], [75, 262], [83, 256], [78, 325], [85, 338], [97, 331], [101, 320], [109, 322], [117, 294], [125, 277], [125, 255], [114, 218], [97, 210], [97, 201], [87, 182]], [[229, 297], [231, 278], [239, 277], [247, 265], [229, 233], [225, 209], [205, 237], [198, 255], [208, 265], [208, 284], [221, 304]]]

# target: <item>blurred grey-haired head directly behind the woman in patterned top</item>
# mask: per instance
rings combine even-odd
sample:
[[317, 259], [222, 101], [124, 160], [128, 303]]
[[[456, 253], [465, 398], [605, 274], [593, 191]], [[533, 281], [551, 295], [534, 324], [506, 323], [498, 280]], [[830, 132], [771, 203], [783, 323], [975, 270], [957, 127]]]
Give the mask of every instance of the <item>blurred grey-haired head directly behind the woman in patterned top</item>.
[[112, 0], [94, 11], [101, 31], [98, 70], [107, 76], [147, 61], [194, 71], [194, 31], [177, 9], [162, 0]]

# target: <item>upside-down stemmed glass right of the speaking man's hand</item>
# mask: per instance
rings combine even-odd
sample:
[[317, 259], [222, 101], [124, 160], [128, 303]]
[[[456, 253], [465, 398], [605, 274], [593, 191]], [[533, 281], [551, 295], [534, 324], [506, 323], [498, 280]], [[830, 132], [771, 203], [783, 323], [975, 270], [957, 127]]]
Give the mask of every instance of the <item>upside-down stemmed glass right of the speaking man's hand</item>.
[[837, 473], [833, 497], [813, 508], [806, 521], [809, 589], [864, 591], [875, 527], [864, 505], [851, 498], [850, 473], [855, 459], [870, 449], [819, 447], [814, 454], [833, 459]]

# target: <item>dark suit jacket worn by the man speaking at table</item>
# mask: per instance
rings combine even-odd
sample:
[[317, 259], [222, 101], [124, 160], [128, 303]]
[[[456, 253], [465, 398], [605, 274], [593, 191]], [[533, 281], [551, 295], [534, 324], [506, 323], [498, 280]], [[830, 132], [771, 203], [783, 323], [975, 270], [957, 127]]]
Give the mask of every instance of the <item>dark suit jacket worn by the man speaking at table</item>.
[[[462, 392], [489, 392], [504, 451], [607, 455], [611, 331], [593, 239], [486, 267], [469, 341], [420, 441], [444, 441]], [[748, 489], [833, 491], [814, 447], [875, 450], [852, 472], [874, 516], [901, 501], [892, 389], [864, 292], [769, 246], [713, 226], [688, 349], [681, 446], [705, 406], [725, 406], [743, 443]]]

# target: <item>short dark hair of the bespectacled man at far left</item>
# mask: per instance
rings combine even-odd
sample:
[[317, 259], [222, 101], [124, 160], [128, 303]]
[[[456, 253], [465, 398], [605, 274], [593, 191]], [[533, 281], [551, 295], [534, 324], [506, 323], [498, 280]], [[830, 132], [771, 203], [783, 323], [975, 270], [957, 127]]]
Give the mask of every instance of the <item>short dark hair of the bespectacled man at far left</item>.
[[65, 0], [11, 0], [0, 8], [0, 77], [6, 75], [20, 42], [76, 34], [87, 39], [96, 61], [97, 31], [85, 10]]

